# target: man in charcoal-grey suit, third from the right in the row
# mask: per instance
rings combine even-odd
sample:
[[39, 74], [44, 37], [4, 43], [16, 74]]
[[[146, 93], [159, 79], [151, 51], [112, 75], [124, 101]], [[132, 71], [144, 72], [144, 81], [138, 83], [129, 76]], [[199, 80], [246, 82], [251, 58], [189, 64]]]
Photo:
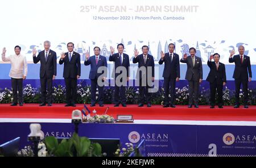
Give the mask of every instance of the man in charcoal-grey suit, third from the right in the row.
[[199, 102], [199, 85], [203, 80], [203, 67], [201, 58], [197, 57], [196, 49], [189, 48], [190, 56], [187, 56], [187, 53], [184, 54], [180, 62], [187, 64], [187, 73], [185, 79], [188, 80], [188, 92], [189, 92], [189, 101], [188, 108], [192, 107], [194, 102], [195, 108], [198, 108]]

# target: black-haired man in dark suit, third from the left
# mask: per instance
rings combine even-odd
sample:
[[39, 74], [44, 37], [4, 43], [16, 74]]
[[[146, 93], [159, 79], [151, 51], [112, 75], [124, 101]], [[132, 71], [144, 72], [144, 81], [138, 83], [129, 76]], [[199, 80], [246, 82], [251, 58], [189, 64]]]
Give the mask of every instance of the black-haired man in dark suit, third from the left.
[[59, 64], [64, 63], [63, 78], [66, 86], [66, 105], [65, 107], [76, 107], [77, 98], [77, 79], [81, 75], [80, 54], [74, 52], [74, 44], [68, 43], [68, 52], [61, 53]]

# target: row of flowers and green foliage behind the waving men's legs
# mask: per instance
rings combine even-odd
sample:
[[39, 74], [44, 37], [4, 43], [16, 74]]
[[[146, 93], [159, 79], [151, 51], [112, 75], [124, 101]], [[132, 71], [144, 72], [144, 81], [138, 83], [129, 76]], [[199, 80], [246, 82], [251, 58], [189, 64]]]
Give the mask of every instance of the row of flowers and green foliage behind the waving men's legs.
[[[248, 90], [249, 91], [249, 100], [250, 105], [256, 105], [256, 89]], [[104, 103], [110, 104], [113, 103], [113, 87], [105, 87], [104, 89]], [[53, 87], [53, 103], [65, 103], [65, 87], [58, 85]], [[81, 83], [77, 85], [77, 102], [76, 103], [90, 103], [91, 88], [88, 85], [82, 86]], [[171, 95], [169, 95], [171, 96]], [[217, 96], [217, 94], [216, 94]], [[96, 98], [98, 98], [98, 89], [96, 90]], [[152, 104], [163, 104], [164, 101], [164, 88], [160, 88], [156, 93], [151, 95]], [[182, 88], [175, 88], [175, 104], [178, 105], [187, 105], [188, 104], [188, 86]], [[243, 93], [240, 90], [240, 103], [243, 104]], [[23, 89], [23, 99], [24, 103], [39, 103], [40, 99], [40, 89], [36, 89], [31, 85], [24, 86]], [[209, 104], [210, 99], [210, 90], [201, 87], [199, 104], [206, 105]], [[127, 104], [138, 104], [139, 100], [139, 89], [135, 87], [126, 88], [126, 101]], [[225, 106], [232, 106], [235, 102], [235, 93], [234, 90], [229, 90], [228, 87], [225, 87], [223, 90], [223, 100]], [[0, 91], [0, 103], [11, 103], [13, 101], [13, 92], [10, 89], [5, 88], [3, 91]]]

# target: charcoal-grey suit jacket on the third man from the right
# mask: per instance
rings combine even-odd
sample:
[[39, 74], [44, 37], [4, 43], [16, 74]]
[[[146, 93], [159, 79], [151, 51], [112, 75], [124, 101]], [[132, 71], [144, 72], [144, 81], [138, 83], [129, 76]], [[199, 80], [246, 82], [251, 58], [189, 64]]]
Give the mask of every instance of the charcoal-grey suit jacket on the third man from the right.
[[203, 67], [201, 58], [195, 56], [195, 66], [193, 66], [193, 61], [191, 56], [188, 56], [186, 60], [181, 58], [180, 62], [187, 64], [187, 73], [185, 79], [188, 81], [199, 81], [199, 79], [203, 79]]

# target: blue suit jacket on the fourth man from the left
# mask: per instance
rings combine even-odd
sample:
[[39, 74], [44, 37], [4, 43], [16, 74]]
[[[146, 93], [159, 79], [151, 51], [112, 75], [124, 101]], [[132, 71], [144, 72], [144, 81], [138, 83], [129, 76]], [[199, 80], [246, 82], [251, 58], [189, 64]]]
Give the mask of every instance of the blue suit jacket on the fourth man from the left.
[[[89, 59], [84, 61], [84, 65], [90, 65], [90, 74], [89, 78], [90, 79], [95, 79], [96, 77], [98, 78], [102, 73], [97, 73], [97, 70], [101, 66], [105, 66], [106, 68], [108, 67], [108, 62], [106, 61], [106, 57], [104, 56], [99, 56], [98, 57], [98, 64], [96, 65], [96, 56], [89, 57]], [[105, 72], [107, 73], [107, 72]]]

